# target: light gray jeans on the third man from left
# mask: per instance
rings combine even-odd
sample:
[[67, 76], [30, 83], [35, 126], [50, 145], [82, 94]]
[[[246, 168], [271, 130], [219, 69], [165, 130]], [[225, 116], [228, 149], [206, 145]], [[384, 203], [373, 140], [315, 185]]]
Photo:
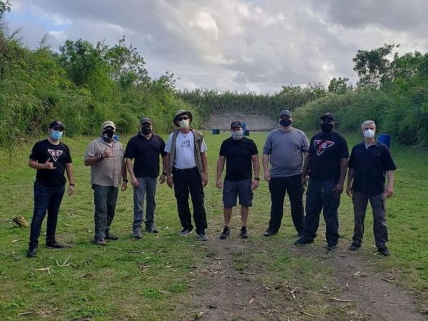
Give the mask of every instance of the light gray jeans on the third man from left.
[[[146, 222], [147, 227], [153, 227], [154, 213], [156, 208], [155, 194], [156, 194], [156, 177], [137, 178], [138, 187], [133, 188], [134, 200], [134, 220], [133, 230], [140, 230], [141, 224]], [[144, 218], [144, 195], [146, 195], [146, 218]]]

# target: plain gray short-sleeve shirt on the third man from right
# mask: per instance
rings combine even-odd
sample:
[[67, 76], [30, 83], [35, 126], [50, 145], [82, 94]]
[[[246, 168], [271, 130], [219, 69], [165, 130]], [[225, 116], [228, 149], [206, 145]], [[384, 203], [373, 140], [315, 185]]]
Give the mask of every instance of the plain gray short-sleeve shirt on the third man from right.
[[263, 155], [270, 160], [272, 178], [290, 177], [303, 172], [303, 153], [307, 153], [309, 142], [306, 134], [300, 129], [271, 131], [263, 146]]

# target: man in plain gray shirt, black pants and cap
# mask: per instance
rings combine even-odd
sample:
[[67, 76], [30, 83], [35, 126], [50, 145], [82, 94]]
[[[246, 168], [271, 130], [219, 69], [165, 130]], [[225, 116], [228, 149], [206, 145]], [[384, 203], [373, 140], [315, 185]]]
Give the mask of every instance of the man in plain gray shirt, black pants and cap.
[[285, 109], [280, 112], [279, 117], [280, 127], [269, 133], [263, 146], [263, 171], [265, 180], [269, 182], [272, 201], [269, 227], [263, 233], [265, 236], [275, 235], [280, 229], [285, 193], [288, 193], [290, 199], [295, 229], [299, 234], [303, 230], [303, 189], [300, 182], [303, 157], [307, 153], [309, 143], [303, 131], [292, 127], [291, 111]]

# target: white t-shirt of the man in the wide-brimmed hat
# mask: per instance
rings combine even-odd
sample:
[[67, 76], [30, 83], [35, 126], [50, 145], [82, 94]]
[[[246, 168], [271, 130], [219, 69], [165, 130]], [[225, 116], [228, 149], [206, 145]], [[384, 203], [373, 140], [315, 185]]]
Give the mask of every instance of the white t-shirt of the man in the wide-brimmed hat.
[[[171, 145], [173, 143], [173, 134], [170, 133], [168, 141], [165, 143], [165, 152], [171, 152]], [[175, 161], [174, 167], [178, 169], [187, 169], [196, 167], [195, 162], [195, 136], [193, 132], [190, 131], [186, 134], [178, 132], [177, 140], [175, 141]], [[205, 145], [205, 140], [202, 140], [202, 145], [200, 146], [200, 153], [207, 151], [207, 146]]]

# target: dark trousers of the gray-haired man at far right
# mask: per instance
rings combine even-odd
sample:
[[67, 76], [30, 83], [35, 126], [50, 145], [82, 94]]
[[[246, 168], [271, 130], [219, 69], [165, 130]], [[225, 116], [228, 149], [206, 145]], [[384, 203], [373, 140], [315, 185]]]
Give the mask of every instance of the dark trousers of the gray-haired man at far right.
[[370, 200], [373, 211], [373, 234], [377, 248], [384, 248], [388, 241], [387, 213], [385, 208], [384, 195], [377, 194], [369, 196], [365, 193], [354, 192], [352, 203], [354, 203], [354, 236], [353, 243], [360, 245], [364, 235], [364, 220], [367, 210], [367, 203]]

